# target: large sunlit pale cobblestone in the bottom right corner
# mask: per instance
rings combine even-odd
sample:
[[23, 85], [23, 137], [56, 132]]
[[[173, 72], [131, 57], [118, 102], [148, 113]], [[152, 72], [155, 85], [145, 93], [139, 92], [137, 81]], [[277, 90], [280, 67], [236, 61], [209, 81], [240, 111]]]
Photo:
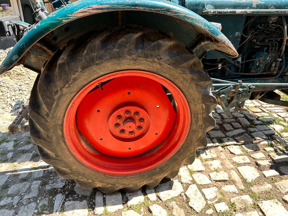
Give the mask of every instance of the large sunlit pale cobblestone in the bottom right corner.
[[[283, 207], [283, 205], [277, 200], [266, 200], [266, 201], [260, 201], [258, 203], [261, 211], [265, 214], [265, 216], [287, 216], [288, 211]], [[277, 214], [275, 214], [275, 210], [277, 211]]]

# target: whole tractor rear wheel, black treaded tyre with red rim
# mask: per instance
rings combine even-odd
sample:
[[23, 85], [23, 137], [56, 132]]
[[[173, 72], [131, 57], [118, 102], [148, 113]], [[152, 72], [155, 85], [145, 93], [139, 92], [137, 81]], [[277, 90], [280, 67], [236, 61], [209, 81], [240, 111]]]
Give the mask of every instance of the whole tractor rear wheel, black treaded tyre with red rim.
[[29, 127], [61, 177], [104, 193], [135, 191], [194, 161], [215, 106], [210, 77], [182, 43], [118, 27], [50, 59], [32, 89]]

